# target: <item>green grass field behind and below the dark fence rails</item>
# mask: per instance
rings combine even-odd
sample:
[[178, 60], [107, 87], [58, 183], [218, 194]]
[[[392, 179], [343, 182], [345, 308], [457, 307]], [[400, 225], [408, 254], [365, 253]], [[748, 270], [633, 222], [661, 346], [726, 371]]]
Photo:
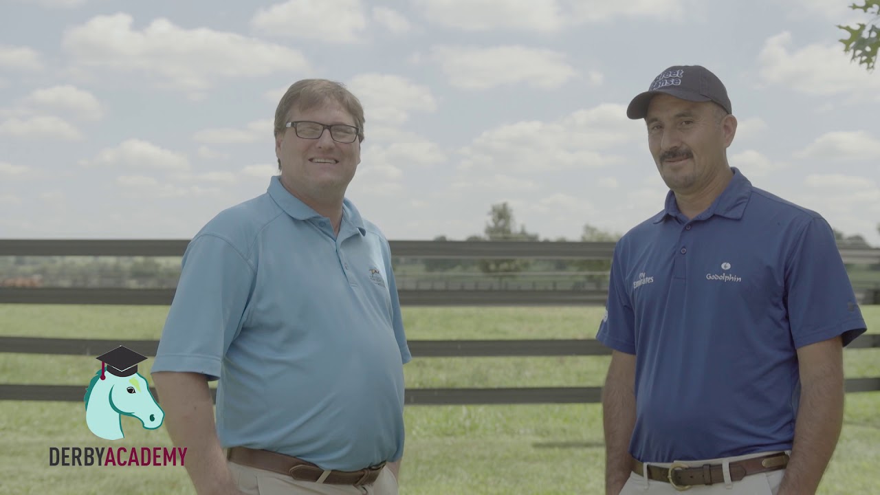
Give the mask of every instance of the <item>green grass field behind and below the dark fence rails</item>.
[[[864, 307], [880, 333], [880, 307]], [[0, 335], [156, 339], [167, 307], [0, 305]], [[592, 338], [600, 307], [404, 308], [410, 339]], [[880, 349], [847, 351], [847, 378], [880, 376]], [[422, 358], [407, 387], [599, 386], [607, 357]], [[149, 370], [151, 359], [142, 365]], [[94, 358], [0, 353], [0, 381], [85, 387]], [[146, 375], [146, 373], [143, 373]], [[847, 395], [837, 452], [819, 493], [876, 492], [880, 392]], [[599, 404], [410, 406], [403, 495], [603, 492]], [[193, 493], [182, 468], [50, 467], [49, 447], [170, 447], [124, 418], [125, 440], [92, 435], [83, 403], [0, 401], [0, 493]]]

